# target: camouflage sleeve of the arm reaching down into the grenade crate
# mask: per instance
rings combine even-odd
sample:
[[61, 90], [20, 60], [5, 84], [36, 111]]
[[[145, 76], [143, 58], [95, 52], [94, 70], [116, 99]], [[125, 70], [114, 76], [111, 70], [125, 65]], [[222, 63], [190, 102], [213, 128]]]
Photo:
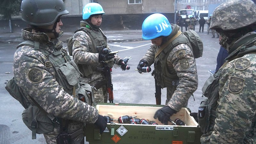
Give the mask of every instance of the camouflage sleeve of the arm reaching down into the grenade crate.
[[174, 47], [167, 58], [167, 67], [170, 71], [174, 69], [180, 79], [180, 84], [167, 105], [179, 111], [198, 86], [196, 61], [189, 46], [180, 44]]

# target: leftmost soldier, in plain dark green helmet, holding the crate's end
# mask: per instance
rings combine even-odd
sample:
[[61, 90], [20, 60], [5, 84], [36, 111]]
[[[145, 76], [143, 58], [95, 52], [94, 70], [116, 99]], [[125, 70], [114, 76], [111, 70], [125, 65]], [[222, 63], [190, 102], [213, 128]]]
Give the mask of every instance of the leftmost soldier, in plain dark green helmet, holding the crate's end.
[[[62, 131], [60, 126], [63, 127], [63, 122], [66, 122], [64, 125], [68, 124], [66, 130], [71, 135], [68, 143], [76, 144], [84, 143], [85, 123], [95, 123], [100, 126], [101, 133], [107, 125], [107, 119], [100, 116], [97, 109], [91, 106], [92, 102], [88, 101], [89, 104], [87, 104], [78, 99], [77, 92], [87, 94], [87, 92], [80, 92], [83, 89], [81, 83], [78, 81], [74, 85], [74, 88], [76, 87], [74, 92], [73, 85], [68, 88], [67, 83], [63, 84], [61, 82], [64, 80], [63, 74], [60, 75], [59, 71], [56, 71], [59, 65], [62, 66], [59, 70], [64, 68], [64, 71], [67, 71], [68, 69], [65, 69], [67, 66], [73, 70], [71, 74], [78, 75], [76, 77], [70, 73], [64, 75], [69, 79], [79, 80], [80, 73], [76, 64], [70, 61], [63, 42], [58, 40], [63, 33], [60, 31], [63, 25], [60, 17], [68, 13], [62, 0], [23, 0], [21, 3], [21, 18], [30, 27], [22, 29], [22, 37], [27, 41], [21, 43], [14, 54], [14, 80], [20, 91], [24, 92], [24, 97], [28, 99], [28, 109], [41, 107], [39, 109], [43, 115], [37, 117], [37, 122], [42, 117], [49, 119], [48, 117], [52, 116], [58, 119], [52, 123], [53, 129], [44, 133], [46, 142], [49, 144], [57, 143], [57, 135]], [[74, 93], [76, 94], [72, 95]], [[46, 116], [46, 113], [49, 116]], [[27, 117], [30, 117], [29, 114], [28, 110]], [[24, 112], [22, 117], [23, 115]], [[40, 127], [39, 122], [35, 124]], [[37, 126], [35, 127], [38, 128]]]

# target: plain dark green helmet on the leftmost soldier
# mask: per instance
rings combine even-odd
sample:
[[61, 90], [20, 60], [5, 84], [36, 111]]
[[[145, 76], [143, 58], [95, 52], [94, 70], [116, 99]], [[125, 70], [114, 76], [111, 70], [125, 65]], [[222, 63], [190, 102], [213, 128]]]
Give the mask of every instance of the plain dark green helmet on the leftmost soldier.
[[62, 0], [22, 0], [21, 19], [34, 26], [47, 26], [69, 12]]

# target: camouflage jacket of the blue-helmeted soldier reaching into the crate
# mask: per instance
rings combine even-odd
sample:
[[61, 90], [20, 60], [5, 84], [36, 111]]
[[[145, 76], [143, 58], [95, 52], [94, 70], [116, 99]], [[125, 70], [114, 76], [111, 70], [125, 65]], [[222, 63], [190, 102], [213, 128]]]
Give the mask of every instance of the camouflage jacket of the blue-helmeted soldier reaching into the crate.
[[[177, 33], [177, 25], [172, 25], [173, 33]], [[176, 32], [175, 32], [176, 31]], [[172, 38], [170, 36], [169, 38]], [[152, 65], [155, 60], [155, 54], [160, 47], [156, 44], [151, 44], [146, 54], [142, 57], [143, 60]], [[183, 69], [180, 65], [181, 61], [187, 61], [188, 68]], [[187, 102], [193, 92], [196, 91], [198, 85], [196, 61], [193, 56], [192, 50], [187, 44], [180, 44], [172, 49], [168, 54], [166, 61], [170, 74], [177, 74], [180, 79], [180, 84], [177, 86], [176, 91], [172, 94], [172, 98], [168, 102], [168, 106], [172, 109], [179, 111]], [[172, 85], [170, 85], [172, 87]]]

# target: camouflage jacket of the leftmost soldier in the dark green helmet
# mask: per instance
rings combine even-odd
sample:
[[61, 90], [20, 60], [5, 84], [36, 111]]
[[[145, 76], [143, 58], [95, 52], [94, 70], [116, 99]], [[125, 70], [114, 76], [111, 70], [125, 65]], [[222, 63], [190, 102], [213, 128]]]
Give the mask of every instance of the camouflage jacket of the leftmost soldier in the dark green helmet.
[[[33, 33], [31, 28], [22, 29], [22, 37], [24, 40], [39, 41], [40, 48], [49, 52], [65, 50], [63, 42], [56, 39], [50, 41], [45, 33]], [[46, 55], [30, 46], [21, 46], [14, 54], [14, 80], [28, 100], [33, 103], [32, 97], [47, 113], [69, 119], [68, 132], [81, 129], [84, 123], [95, 123], [97, 109], [65, 92], [56, 81], [55, 70], [46, 68], [47, 61]], [[35, 68], [37, 75], [29, 75]]]

